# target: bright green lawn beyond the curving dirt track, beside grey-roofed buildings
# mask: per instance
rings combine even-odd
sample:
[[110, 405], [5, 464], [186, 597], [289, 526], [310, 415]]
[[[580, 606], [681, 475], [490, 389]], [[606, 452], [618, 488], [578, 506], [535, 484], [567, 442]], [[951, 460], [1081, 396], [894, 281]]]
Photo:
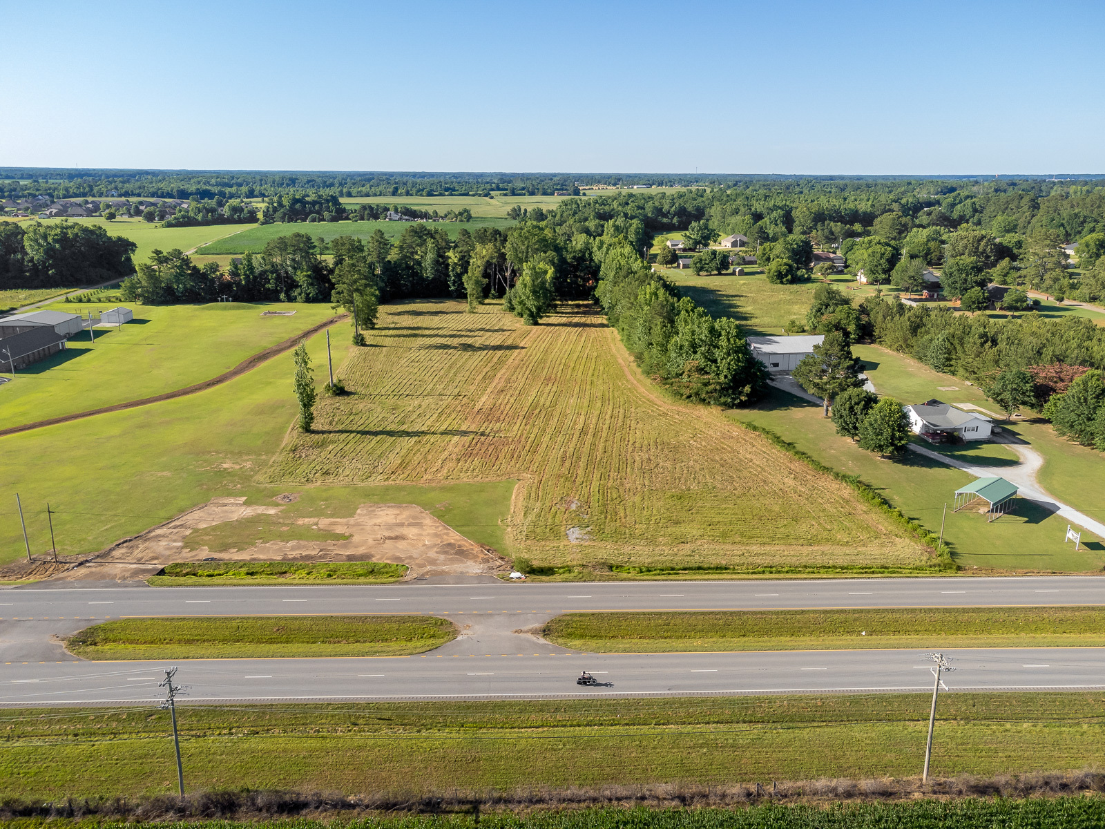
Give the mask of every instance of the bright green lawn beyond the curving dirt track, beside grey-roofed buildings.
[[[49, 307], [76, 313], [117, 305], [56, 303]], [[122, 327], [96, 328], [94, 342], [87, 332], [78, 334], [64, 350], [28, 366], [13, 381], [0, 386], [3, 424], [87, 411], [191, 386], [335, 314], [322, 303], [125, 305], [134, 311], [134, 321]], [[264, 311], [295, 314], [261, 316]], [[347, 336], [338, 335], [335, 343], [341, 345], [337, 350], [344, 350], [347, 342]]]

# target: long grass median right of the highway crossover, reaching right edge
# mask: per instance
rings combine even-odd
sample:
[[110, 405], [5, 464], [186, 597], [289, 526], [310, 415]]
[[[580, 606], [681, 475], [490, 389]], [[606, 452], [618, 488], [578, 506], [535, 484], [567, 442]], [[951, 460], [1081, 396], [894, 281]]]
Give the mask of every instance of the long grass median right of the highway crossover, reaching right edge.
[[1105, 647], [1105, 608], [895, 608], [566, 613], [546, 639], [591, 653]]

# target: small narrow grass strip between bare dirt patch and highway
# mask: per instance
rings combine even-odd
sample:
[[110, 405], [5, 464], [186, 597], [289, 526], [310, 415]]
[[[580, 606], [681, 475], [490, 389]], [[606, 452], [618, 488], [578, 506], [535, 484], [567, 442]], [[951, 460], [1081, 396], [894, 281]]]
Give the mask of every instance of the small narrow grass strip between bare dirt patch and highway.
[[[188, 541], [191, 542], [191, 536]], [[164, 575], [146, 580], [155, 587], [304, 583], [387, 585], [398, 581], [406, 573], [406, 565], [379, 562], [187, 562], [170, 564]]]

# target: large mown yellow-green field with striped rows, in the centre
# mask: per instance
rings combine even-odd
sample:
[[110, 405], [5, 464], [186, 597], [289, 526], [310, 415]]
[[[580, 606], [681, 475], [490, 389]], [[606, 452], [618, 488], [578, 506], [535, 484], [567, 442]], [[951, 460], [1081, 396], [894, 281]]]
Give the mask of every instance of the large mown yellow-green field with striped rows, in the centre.
[[[512, 553], [539, 566], [908, 567], [927, 550], [719, 410], [640, 378], [591, 306], [527, 327], [495, 305], [381, 307], [370, 347], [288, 432], [270, 482], [516, 478]], [[569, 533], [577, 543], [569, 541]]]

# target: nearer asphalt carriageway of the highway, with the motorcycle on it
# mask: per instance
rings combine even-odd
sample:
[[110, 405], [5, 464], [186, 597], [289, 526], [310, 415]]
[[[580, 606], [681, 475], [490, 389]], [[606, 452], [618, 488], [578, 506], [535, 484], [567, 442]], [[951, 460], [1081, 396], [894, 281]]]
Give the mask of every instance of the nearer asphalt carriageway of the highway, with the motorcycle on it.
[[[1072, 691], [1105, 686], [1105, 649], [951, 650], [953, 691]], [[188, 702], [549, 699], [928, 691], [930, 663], [913, 650], [756, 653], [441, 654], [377, 659], [50, 662], [3, 667], [0, 705], [141, 703], [162, 699], [164, 669]], [[71, 658], [72, 659], [72, 658]], [[608, 685], [580, 688], [591, 672]]]

